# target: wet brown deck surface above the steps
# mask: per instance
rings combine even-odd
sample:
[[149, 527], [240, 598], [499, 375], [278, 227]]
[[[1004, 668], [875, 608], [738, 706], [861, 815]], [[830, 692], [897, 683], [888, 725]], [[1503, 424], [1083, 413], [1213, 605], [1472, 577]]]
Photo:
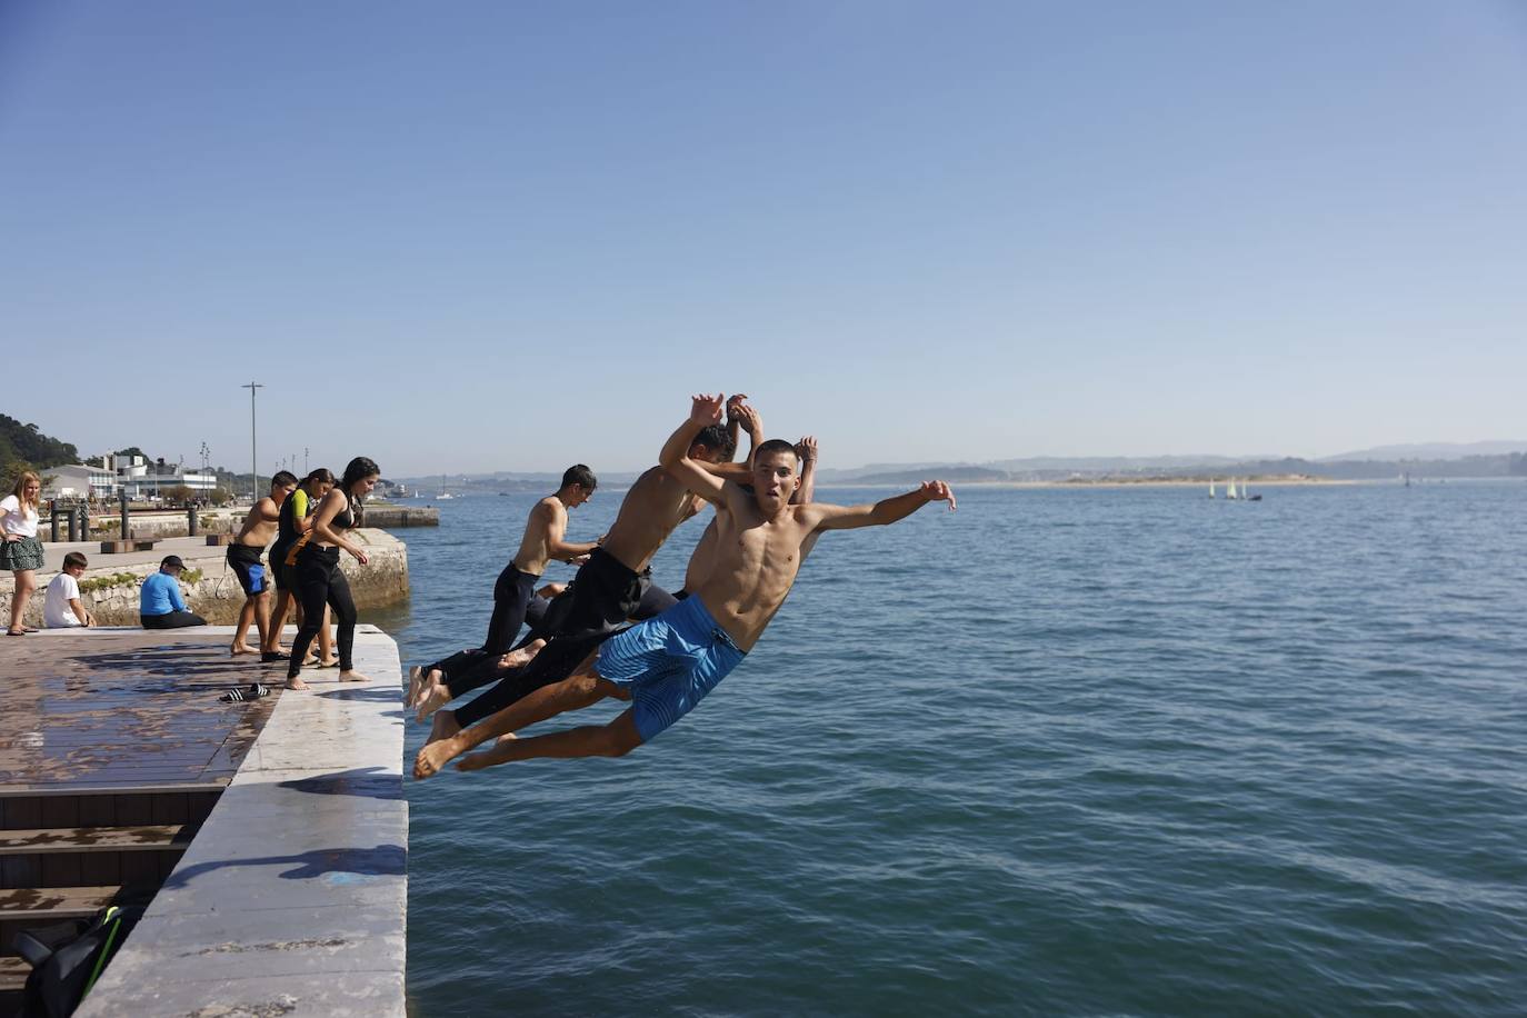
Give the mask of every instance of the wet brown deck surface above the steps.
[[229, 658], [228, 636], [140, 629], [0, 636], [0, 788], [228, 784], [279, 691], [243, 704], [218, 696], [281, 682], [281, 667]]

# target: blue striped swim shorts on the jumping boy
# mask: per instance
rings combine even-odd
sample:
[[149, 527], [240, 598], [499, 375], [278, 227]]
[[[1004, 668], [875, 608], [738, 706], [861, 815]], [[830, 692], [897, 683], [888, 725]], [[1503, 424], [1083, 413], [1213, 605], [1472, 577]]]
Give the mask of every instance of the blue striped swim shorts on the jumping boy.
[[606, 639], [594, 670], [631, 690], [637, 733], [651, 742], [695, 710], [742, 658], [699, 598], [689, 597]]

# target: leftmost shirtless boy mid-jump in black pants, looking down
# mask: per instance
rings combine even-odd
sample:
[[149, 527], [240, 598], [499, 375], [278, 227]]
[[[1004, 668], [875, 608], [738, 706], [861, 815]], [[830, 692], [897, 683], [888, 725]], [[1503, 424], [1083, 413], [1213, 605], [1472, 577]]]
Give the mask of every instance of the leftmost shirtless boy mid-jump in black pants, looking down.
[[[536, 581], [547, 571], [547, 563], [553, 559], [576, 562], [599, 548], [599, 542], [596, 540], [563, 540], [568, 528], [568, 510], [577, 508], [594, 498], [597, 485], [599, 481], [594, 478], [594, 472], [583, 464], [576, 464], [562, 473], [562, 487], [554, 495], [548, 495], [536, 502], [536, 507], [530, 510], [530, 519], [525, 520], [525, 533], [519, 539], [519, 551], [508, 560], [504, 571], [498, 574], [498, 581], [493, 585], [493, 617], [489, 620], [487, 638], [483, 641], [484, 662], [489, 658], [498, 659], [508, 653], [515, 636], [519, 635], [519, 627], [525, 623], [525, 609], [530, 607], [530, 601], [536, 597]], [[481, 672], [484, 679], [478, 685], [492, 681], [495, 675], [492, 668], [483, 668]], [[408, 705], [414, 707], [423, 693], [428, 675], [425, 668], [415, 667], [409, 670], [408, 678]], [[469, 688], [476, 687], [449, 688], [435, 691], [435, 696], [444, 694], [449, 701], [454, 696], [461, 696]]]

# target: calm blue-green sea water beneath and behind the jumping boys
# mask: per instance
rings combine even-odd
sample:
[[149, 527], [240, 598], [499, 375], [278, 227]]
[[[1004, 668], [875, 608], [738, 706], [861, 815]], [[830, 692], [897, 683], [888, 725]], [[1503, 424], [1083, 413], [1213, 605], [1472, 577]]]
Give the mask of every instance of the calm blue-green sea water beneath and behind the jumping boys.
[[[414, 1010], [1521, 1013], [1527, 485], [1263, 493], [829, 534], [635, 754], [411, 784]], [[481, 641], [531, 501], [403, 533], [405, 661]]]

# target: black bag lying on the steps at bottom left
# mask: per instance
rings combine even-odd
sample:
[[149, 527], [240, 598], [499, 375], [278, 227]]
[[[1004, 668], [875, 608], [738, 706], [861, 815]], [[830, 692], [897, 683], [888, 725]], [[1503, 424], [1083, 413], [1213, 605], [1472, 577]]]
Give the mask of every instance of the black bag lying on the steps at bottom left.
[[[137, 896], [119, 894], [118, 900]], [[108, 905], [95, 919], [26, 929], [12, 945], [32, 965], [21, 997], [23, 1018], [67, 1018], [101, 977], [127, 934], [144, 917], [147, 904]]]

